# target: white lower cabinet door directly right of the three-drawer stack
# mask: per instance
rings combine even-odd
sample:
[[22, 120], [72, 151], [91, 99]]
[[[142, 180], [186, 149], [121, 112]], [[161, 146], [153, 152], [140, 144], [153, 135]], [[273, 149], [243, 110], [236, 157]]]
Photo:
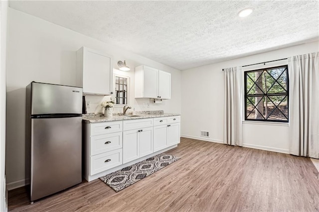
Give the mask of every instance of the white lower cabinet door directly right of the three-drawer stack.
[[123, 131], [123, 163], [138, 159], [139, 156], [140, 145], [138, 130]]

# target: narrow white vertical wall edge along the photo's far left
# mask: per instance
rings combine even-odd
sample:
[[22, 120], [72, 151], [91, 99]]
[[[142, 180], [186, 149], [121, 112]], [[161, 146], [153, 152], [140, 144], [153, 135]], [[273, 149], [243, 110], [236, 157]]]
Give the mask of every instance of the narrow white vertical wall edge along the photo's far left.
[[8, 1], [0, 1], [0, 211], [7, 211], [5, 192], [5, 70]]

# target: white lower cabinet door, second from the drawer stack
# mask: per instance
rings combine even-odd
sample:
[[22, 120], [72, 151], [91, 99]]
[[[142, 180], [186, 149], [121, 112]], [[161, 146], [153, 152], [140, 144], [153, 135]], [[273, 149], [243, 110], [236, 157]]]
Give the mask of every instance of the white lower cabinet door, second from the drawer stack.
[[140, 133], [140, 157], [153, 153], [153, 127], [143, 128]]

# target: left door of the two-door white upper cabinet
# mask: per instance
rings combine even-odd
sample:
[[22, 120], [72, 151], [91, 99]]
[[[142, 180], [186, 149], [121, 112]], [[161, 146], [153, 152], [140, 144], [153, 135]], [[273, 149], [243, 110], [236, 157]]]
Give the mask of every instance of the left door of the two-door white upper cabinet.
[[158, 69], [144, 66], [143, 97], [157, 98], [158, 95]]

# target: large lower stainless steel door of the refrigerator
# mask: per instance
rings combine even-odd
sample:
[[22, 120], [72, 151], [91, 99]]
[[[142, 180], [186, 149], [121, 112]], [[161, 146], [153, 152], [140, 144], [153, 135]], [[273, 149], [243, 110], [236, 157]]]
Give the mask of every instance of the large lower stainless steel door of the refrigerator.
[[31, 201], [82, 181], [82, 117], [31, 119]]

